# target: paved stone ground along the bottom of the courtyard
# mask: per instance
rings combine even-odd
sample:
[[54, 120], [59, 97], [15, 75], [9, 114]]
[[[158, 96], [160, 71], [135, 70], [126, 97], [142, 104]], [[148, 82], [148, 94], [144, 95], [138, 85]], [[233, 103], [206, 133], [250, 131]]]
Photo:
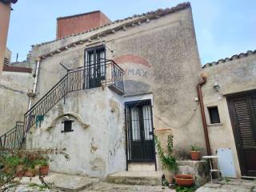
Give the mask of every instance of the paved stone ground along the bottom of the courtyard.
[[[58, 176], [58, 177], [57, 177]], [[34, 178], [33, 182], [26, 182], [23, 180], [20, 186], [16, 190], [10, 190], [11, 192], [64, 192], [64, 191], [81, 191], [81, 192], [174, 192], [168, 187], [164, 186], [138, 186], [138, 185], [120, 185], [107, 182], [98, 182], [91, 178], [84, 178], [74, 175], [61, 175], [53, 174], [48, 177], [49, 180], [54, 180], [55, 184], [58, 182], [65, 182], [65, 185], [56, 185], [58, 190], [48, 190], [42, 187], [41, 183]], [[72, 178], [72, 182], [68, 181], [68, 178]], [[86, 181], [86, 182], [85, 182]], [[90, 184], [91, 183], [91, 184]], [[90, 185], [88, 185], [90, 184]], [[80, 186], [79, 186], [80, 185]], [[76, 187], [74, 187], [76, 186]], [[84, 186], [84, 187], [83, 187]], [[81, 189], [82, 187], [82, 189]], [[196, 192], [256, 192], [256, 180], [241, 180], [241, 179], [228, 179], [218, 181], [215, 180], [213, 184], [206, 183], [205, 186], [201, 186]]]

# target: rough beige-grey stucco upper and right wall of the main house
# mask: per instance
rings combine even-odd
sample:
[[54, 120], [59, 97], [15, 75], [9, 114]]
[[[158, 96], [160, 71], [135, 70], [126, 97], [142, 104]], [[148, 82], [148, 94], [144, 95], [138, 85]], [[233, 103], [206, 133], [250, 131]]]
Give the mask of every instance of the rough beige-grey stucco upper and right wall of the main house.
[[[31, 59], [94, 33], [34, 46]], [[191, 144], [204, 148], [199, 106], [194, 102], [201, 67], [190, 8], [42, 59], [35, 101], [65, 74], [59, 62], [69, 68], [83, 66], [84, 50], [102, 42], [106, 58], [114, 59], [126, 71], [126, 94], [154, 94], [155, 129], [172, 130], [176, 150], [188, 150]]]

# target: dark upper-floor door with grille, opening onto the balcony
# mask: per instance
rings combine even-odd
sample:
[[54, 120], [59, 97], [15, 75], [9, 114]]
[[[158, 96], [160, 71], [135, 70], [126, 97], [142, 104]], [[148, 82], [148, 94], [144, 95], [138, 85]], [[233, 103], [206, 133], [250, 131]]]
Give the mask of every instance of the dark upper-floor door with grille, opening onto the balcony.
[[106, 51], [104, 46], [97, 46], [86, 49], [86, 88], [101, 86], [101, 82], [106, 77]]

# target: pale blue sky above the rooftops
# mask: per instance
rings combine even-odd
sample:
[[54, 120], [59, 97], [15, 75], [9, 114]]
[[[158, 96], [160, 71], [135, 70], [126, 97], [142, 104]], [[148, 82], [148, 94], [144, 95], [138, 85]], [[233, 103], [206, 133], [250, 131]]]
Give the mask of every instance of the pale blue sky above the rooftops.
[[[31, 45], [56, 38], [56, 18], [102, 10], [112, 21], [176, 6], [181, 0], [18, 0], [7, 46], [12, 62], [26, 59]], [[202, 65], [256, 50], [256, 0], [190, 0]]]

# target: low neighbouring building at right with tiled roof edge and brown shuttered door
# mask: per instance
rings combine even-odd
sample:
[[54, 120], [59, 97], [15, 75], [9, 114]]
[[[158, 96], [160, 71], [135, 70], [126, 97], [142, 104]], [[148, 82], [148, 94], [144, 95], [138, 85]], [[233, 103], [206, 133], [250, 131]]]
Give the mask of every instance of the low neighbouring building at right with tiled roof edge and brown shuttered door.
[[202, 92], [210, 145], [226, 158], [225, 172], [256, 176], [256, 50], [207, 63]]

